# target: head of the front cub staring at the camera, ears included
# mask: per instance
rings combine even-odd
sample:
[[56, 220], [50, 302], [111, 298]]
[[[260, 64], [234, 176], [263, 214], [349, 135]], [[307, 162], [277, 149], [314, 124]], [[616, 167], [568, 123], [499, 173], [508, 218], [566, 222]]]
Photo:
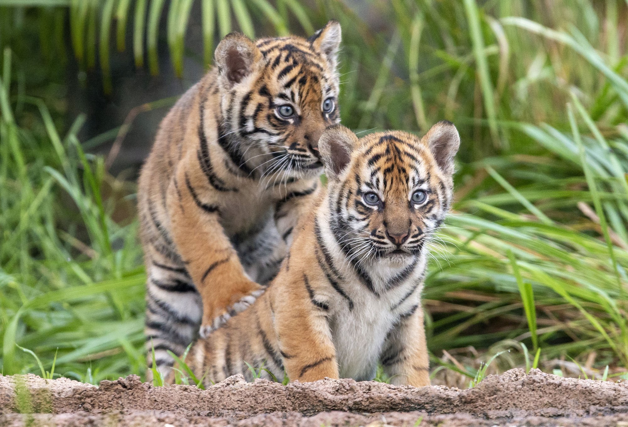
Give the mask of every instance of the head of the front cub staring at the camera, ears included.
[[359, 140], [338, 125], [320, 145], [340, 246], [360, 262], [419, 255], [452, 201], [454, 125], [439, 122], [421, 139], [389, 131]]

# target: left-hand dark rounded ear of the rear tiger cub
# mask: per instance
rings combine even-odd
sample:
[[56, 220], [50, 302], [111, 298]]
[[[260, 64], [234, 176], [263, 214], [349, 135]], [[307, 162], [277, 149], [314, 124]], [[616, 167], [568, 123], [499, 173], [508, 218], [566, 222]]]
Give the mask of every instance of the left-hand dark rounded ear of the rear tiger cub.
[[230, 86], [240, 83], [251, 74], [261, 52], [253, 41], [240, 33], [230, 33], [218, 43], [214, 58], [220, 74]]

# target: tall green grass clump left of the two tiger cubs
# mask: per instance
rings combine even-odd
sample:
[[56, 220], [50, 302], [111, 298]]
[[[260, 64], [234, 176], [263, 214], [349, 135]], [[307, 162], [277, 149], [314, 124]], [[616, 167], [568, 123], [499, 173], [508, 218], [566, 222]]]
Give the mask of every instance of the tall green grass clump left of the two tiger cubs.
[[60, 135], [44, 102], [11, 95], [11, 64], [6, 48], [0, 78], [3, 374], [38, 372], [38, 364], [43, 372], [56, 369], [84, 381], [88, 370], [91, 381], [139, 372], [138, 224], [112, 219], [120, 209], [133, 213], [132, 201], [120, 199], [126, 184], [82, 149], [76, 134], [83, 116]]

